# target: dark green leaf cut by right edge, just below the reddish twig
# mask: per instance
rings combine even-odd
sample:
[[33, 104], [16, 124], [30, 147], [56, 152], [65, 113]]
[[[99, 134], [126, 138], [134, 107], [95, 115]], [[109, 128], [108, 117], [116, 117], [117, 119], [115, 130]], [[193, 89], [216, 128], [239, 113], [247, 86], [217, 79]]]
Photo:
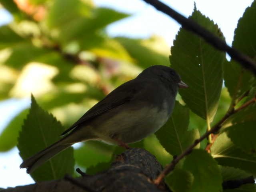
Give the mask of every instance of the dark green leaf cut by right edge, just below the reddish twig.
[[226, 128], [226, 132], [231, 141], [242, 148], [247, 153], [256, 154], [256, 121], [239, 123]]

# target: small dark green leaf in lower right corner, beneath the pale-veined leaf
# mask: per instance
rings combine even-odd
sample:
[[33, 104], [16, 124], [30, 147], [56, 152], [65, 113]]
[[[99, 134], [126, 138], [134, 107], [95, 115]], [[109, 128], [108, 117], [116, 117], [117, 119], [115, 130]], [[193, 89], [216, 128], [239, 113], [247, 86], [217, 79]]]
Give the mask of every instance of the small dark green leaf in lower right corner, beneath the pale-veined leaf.
[[234, 167], [222, 166], [220, 170], [223, 181], [244, 179], [251, 176], [244, 170]]

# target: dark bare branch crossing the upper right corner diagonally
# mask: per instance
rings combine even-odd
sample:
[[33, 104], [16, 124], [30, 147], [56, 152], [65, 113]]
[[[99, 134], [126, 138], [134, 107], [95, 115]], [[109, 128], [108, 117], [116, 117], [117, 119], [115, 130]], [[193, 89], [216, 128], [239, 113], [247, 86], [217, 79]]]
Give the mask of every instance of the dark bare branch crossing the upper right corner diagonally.
[[174, 20], [176, 20], [178, 23], [182, 25], [182, 27], [186, 28], [186, 30], [190, 30], [194, 32], [195, 34], [201, 36], [204, 38], [206, 42], [217, 48], [218, 50], [222, 50], [224, 52], [227, 52], [231, 58], [239, 62], [244, 68], [247, 70], [251, 70], [254, 75], [256, 75], [256, 63], [245, 54], [242, 54], [238, 50], [231, 48], [226, 44], [224, 40], [221, 38], [215, 36], [192, 19], [188, 19], [184, 17], [183, 15], [179, 14], [178, 12], [174, 11], [172, 8], [168, 7], [166, 4], [158, 1], [158, 0], [144, 0], [148, 4], [151, 4], [156, 8], [157, 10], [167, 14]]

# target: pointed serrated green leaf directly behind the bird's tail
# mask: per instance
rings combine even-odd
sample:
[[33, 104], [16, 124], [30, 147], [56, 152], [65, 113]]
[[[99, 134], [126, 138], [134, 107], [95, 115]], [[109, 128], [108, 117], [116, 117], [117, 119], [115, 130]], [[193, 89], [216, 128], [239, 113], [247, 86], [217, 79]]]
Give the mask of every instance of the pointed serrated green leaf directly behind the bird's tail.
[[[31, 100], [31, 108], [24, 120], [17, 145], [23, 160], [59, 140], [64, 131], [60, 122], [52, 114], [42, 110], [33, 96]], [[68, 148], [32, 172], [31, 176], [36, 182], [56, 180], [63, 178], [65, 174], [72, 174], [73, 171], [73, 149]]]

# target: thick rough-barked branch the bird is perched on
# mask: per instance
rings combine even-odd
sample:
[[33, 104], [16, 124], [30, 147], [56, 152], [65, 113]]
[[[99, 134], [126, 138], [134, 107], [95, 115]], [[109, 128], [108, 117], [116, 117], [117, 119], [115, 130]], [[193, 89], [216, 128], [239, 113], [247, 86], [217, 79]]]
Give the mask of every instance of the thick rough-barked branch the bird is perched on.
[[[72, 180], [61, 179], [8, 188], [2, 192], [160, 192], [170, 191], [162, 184], [158, 188], [152, 180], [162, 166], [148, 151], [132, 148], [117, 156], [111, 167], [99, 174], [84, 175]], [[68, 177], [70, 178], [70, 177]]]

